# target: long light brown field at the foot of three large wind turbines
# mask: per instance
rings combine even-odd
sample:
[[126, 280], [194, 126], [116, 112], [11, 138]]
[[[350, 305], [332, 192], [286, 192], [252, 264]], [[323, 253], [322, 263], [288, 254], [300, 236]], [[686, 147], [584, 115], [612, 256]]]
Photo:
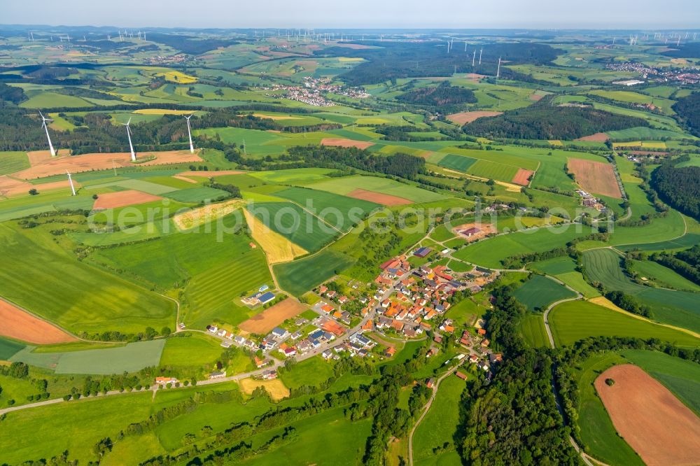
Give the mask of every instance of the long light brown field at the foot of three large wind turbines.
[[[151, 165], [176, 164], [183, 162], [202, 162], [202, 158], [197, 154], [190, 154], [189, 150], [167, 150], [164, 152], [154, 153], [139, 153], [137, 158], [145, 158], [155, 156], [155, 160], [150, 160], [138, 164], [141, 167]], [[119, 153], [94, 153], [75, 155], [68, 157], [51, 157], [48, 160], [41, 160], [33, 164], [31, 168], [18, 171], [13, 176], [29, 180], [32, 178], [43, 178], [44, 176], [53, 176], [65, 174], [66, 171], [71, 173], [80, 173], [81, 171], [105, 170], [112, 167], [134, 167], [131, 161], [131, 154], [127, 152]]]

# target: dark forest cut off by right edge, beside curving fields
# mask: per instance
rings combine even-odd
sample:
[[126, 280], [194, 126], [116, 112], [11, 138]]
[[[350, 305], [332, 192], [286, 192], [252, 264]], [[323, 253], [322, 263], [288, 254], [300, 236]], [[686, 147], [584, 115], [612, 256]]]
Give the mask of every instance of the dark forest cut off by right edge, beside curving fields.
[[676, 168], [685, 157], [661, 164], [652, 171], [650, 184], [666, 204], [700, 220], [700, 167]]

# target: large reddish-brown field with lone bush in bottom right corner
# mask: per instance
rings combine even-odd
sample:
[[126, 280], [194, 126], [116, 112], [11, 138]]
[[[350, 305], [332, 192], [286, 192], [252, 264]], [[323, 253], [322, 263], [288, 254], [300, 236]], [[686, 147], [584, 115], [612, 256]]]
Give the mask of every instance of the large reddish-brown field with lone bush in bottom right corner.
[[[615, 383], [608, 386], [606, 379]], [[635, 365], [603, 372], [595, 381], [612, 424], [649, 466], [692, 466], [700, 458], [700, 418], [659, 381]]]

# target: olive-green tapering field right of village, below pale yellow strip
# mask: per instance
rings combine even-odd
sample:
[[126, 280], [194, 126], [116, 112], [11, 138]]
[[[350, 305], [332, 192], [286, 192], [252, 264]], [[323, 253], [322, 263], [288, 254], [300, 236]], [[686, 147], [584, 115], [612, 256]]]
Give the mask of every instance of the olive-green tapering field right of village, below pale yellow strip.
[[658, 338], [678, 346], [700, 346], [700, 339], [692, 335], [590, 302], [564, 302], [555, 306], [549, 313], [549, 323], [557, 346], [586, 337]]

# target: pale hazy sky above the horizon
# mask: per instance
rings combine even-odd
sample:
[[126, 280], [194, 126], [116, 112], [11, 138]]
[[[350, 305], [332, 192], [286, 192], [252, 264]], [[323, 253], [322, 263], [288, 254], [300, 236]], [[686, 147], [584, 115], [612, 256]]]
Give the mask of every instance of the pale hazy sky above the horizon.
[[697, 0], [0, 0], [2, 24], [220, 28], [692, 29]]

